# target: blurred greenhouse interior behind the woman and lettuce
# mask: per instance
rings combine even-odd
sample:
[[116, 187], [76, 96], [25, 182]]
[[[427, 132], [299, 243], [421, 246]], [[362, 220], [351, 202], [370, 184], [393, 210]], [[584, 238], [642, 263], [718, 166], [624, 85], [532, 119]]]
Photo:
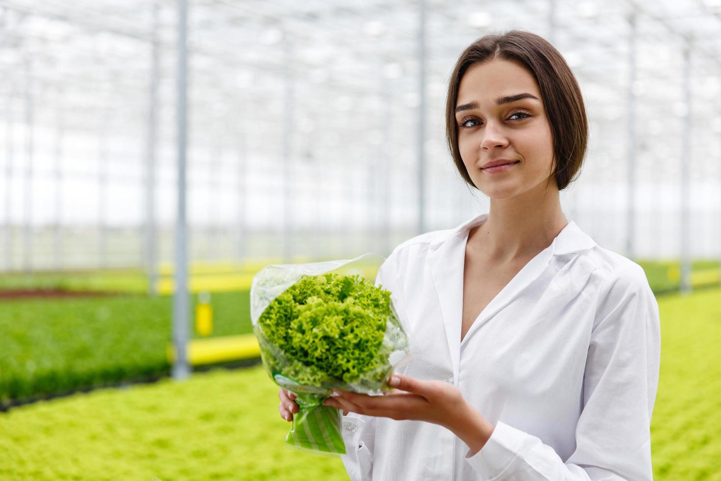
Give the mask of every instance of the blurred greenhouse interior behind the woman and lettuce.
[[719, 0], [0, 0], [0, 477], [347, 479], [283, 444], [253, 275], [487, 212], [445, 95], [513, 28], [585, 99], [567, 219], [657, 294], [655, 477], [721, 480]]

